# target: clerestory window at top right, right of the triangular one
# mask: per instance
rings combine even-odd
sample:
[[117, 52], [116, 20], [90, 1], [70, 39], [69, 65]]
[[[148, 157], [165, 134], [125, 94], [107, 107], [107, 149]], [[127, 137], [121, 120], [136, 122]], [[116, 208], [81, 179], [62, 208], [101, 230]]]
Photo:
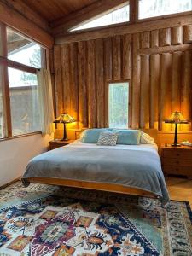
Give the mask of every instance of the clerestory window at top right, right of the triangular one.
[[192, 10], [191, 0], [140, 0], [139, 19]]

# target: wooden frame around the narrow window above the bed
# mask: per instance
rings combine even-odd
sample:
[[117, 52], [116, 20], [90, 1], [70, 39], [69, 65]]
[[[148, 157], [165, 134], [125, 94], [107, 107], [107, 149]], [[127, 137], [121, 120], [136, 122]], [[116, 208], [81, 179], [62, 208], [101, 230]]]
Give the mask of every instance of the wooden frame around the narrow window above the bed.
[[105, 96], [105, 116], [106, 116], [106, 124], [109, 127], [109, 84], [121, 84], [128, 83], [128, 126], [125, 129], [131, 127], [131, 79], [120, 79], [120, 80], [108, 80], [106, 85], [106, 96]]

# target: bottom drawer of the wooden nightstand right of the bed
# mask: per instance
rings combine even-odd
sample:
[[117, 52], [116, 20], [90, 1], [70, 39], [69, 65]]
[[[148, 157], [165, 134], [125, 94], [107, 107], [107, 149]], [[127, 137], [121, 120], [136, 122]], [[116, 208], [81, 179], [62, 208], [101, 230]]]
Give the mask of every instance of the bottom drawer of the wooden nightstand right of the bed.
[[179, 175], [185, 175], [185, 176], [192, 176], [191, 166], [163, 165], [163, 172], [166, 172], [167, 174], [179, 174]]

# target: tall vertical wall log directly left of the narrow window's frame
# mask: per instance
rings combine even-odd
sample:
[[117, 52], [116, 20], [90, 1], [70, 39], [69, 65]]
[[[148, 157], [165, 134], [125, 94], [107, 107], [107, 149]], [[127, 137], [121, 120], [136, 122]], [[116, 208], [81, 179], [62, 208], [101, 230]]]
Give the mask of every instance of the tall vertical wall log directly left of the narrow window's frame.
[[96, 39], [96, 98], [97, 98], [97, 126], [105, 125], [105, 84], [103, 68], [103, 40]]

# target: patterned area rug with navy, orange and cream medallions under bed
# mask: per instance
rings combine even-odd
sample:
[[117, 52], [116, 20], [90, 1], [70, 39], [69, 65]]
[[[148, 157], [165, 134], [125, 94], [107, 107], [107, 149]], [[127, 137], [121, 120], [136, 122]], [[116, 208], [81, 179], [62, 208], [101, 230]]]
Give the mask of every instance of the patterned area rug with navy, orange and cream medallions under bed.
[[0, 191], [0, 255], [192, 255], [186, 202], [20, 182]]

